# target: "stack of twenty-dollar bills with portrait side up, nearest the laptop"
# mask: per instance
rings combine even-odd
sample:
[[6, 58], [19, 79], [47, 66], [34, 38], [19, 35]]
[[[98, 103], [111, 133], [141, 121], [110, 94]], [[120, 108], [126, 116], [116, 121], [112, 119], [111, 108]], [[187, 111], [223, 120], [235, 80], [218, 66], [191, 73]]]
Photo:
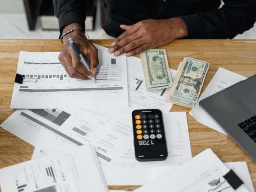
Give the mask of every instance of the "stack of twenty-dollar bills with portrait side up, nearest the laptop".
[[192, 108], [197, 102], [209, 63], [185, 57], [180, 63], [166, 101]]

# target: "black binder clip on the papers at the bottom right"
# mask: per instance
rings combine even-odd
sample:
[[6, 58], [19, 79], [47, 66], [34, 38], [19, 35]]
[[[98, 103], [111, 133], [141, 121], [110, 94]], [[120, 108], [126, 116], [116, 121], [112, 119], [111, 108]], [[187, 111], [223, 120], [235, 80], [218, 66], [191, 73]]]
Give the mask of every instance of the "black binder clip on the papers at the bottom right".
[[[224, 181], [220, 183], [220, 178], [218, 180], [213, 180], [209, 183], [210, 186], [216, 185], [218, 183], [218, 186], [216, 186], [214, 189], [209, 189], [208, 192], [221, 192], [224, 189], [227, 189], [229, 187], [232, 187], [234, 190], [239, 188], [244, 182], [236, 175], [235, 172], [231, 169], [229, 172], [227, 172], [226, 175], [223, 176]], [[229, 184], [229, 186], [224, 187], [223, 189], [219, 189], [225, 182]]]

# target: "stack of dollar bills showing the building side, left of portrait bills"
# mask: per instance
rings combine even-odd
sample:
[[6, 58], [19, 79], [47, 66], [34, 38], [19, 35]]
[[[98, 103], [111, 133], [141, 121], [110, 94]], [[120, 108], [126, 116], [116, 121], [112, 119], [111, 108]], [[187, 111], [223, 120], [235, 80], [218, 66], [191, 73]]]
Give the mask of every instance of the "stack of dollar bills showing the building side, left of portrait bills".
[[140, 54], [146, 89], [158, 90], [172, 87], [172, 76], [165, 49], [150, 49]]

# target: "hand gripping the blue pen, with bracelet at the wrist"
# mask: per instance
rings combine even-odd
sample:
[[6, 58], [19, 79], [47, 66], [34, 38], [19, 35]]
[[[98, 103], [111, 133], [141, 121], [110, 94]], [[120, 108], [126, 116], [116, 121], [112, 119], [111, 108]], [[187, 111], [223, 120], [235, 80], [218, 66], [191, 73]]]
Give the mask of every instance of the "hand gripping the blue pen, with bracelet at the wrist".
[[[79, 28], [77, 23], [71, 23], [64, 26], [63, 32], [67, 32], [70, 29]], [[73, 38], [81, 54], [84, 57], [90, 58], [90, 71], [88, 71], [80, 62], [73, 48], [71, 47], [68, 39]], [[68, 75], [77, 79], [91, 79], [96, 73], [96, 67], [99, 64], [98, 50], [93, 46], [90, 41], [86, 39], [83, 32], [73, 31], [63, 38], [64, 47], [58, 56], [62, 66], [67, 71]]]

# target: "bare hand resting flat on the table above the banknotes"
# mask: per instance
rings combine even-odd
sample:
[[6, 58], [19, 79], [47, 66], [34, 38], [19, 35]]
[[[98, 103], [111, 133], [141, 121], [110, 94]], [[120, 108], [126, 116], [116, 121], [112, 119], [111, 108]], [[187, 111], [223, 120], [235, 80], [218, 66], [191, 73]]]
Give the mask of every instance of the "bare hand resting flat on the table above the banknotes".
[[148, 19], [120, 27], [126, 31], [116, 38], [108, 49], [115, 56], [123, 53], [126, 53], [126, 56], [137, 55], [187, 35], [186, 24], [178, 17], [165, 20]]

